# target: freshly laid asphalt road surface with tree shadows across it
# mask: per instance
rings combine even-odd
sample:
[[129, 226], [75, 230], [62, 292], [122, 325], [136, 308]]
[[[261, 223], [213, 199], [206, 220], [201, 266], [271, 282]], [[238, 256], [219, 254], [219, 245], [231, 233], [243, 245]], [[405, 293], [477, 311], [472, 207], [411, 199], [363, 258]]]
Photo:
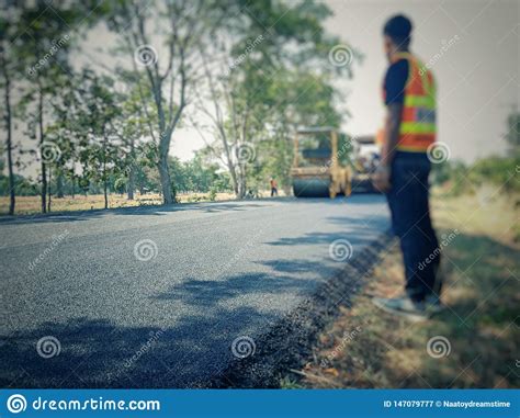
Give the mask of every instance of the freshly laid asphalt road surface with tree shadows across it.
[[380, 195], [2, 219], [1, 387], [204, 386], [388, 227]]

